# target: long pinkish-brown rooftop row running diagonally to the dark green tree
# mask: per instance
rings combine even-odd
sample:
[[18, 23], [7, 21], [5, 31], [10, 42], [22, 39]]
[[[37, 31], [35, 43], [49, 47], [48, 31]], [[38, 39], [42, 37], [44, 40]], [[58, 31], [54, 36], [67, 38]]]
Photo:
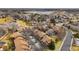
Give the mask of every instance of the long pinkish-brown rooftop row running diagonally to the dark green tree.
[[45, 43], [46, 45], [48, 45], [49, 43], [51, 43], [52, 39], [46, 35], [44, 32], [40, 31], [40, 30], [34, 30], [34, 34], [40, 38], [40, 41]]

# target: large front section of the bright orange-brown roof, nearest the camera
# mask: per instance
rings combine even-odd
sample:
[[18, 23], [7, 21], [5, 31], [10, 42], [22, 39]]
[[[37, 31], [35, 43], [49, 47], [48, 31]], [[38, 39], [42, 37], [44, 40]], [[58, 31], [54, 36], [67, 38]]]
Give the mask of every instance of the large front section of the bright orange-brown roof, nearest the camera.
[[17, 37], [14, 40], [14, 43], [15, 43], [15, 46], [16, 46], [16, 48], [15, 48], [16, 51], [31, 50], [28, 42], [25, 41], [25, 39], [22, 38], [22, 37]]

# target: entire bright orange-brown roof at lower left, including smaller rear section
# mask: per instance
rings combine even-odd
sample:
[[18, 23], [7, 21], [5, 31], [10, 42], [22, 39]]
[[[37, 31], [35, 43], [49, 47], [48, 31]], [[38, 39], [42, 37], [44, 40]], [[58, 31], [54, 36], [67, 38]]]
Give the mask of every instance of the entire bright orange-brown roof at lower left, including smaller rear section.
[[28, 41], [22, 37], [21, 33], [15, 32], [12, 34], [12, 37], [15, 38], [14, 43], [16, 51], [31, 50]]

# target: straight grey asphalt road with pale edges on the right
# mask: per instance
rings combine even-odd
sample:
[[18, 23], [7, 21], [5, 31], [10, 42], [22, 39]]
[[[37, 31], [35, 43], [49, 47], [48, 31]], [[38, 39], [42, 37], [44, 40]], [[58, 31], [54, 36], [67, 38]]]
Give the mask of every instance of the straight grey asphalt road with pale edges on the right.
[[72, 32], [68, 30], [66, 38], [64, 39], [64, 43], [60, 50], [70, 51], [71, 41], [72, 41]]

